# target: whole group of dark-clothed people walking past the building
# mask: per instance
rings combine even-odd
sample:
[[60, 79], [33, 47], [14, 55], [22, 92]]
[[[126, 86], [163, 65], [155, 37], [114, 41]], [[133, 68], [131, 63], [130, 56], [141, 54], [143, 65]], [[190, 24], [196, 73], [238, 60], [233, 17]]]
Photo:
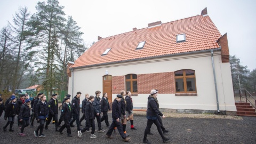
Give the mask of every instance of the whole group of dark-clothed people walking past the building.
[[[161, 135], [163, 142], [167, 142], [170, 138], [164, 136], [167, 133], [165, 127], [163, 126], [161, 116], [165, 116], [159, 111], [159, 103], [157, 100], [157, 90], [151, 90], [148, 97], [147, 106], [147, 126], [145, 129], [143, 143], [151, 143], [147, 139], [148, 134], [153, 134], [150, 132], [151, 125], [153, 123], [157, 126], [157, 130]], [[76, 96], [71, 100], [69, 94], [62, 100], [62, 109], [60, 118], [58, 121], [59, 114], [59, 104], [57, 100], [57, 94], [52, 94], [52, 98], [49, 102], [46, 101], [46, 96], [43, 93], [38, 93], [37, 97], [34, 99], [26, 99], [26, 94], [21, 94], [20, 99], [17, 101], [15, 95], [12, 95], [10, 99], [6, 100], [7, 103], [3, 105], [3, 99], [0, 97], [0, 116], [4, 111], [4, 119], [8, 119], [7, 123], [3, 126], [3, 131], [7, 131], [7, 126], [9, 126], [9, 131], [13, 132], [12, 129], [14, 124], [15, 115], [18, 115], [18, 126], [20, 127], [20, 136], [26, 136], [23, 132], [25, 127], [34, 127], [34, 120], [36, 119], [39, 125], [34, 131], [35, 137], [46, 137], [43, 134], [43, 130], [49, 130], [48, 125], [51, 121], [55, 124], [55, 131], [63, 134], [63, 130], [67, 129], [67, 137], [73, 137], [71, 134], [71, 128], [75, 127], [74, 122], [76, 121], [78, 137], [82, 137], [83, 132], [91, 132], [90, 138], [97, 138], [95, 133], [95, 122], [97, 119], [98, 132], [105, 132], [102, 130], [101, 122], [105, 122], [106, 127], [109, 127], [106, 138], [112, 139], [111, 136], [113, 131], [117, 129], [121, 135], [123, 141], [128, 142], [131, 137], [126, 133], [126, 123], [130, 121], [131, 130], [137, 130], [133, 125], [133, 101], [130, 91], [121, 91], [120, 94], [116, 95], [116, 98], [112, 102], [112, 123], [108, 121], [108, 111], [110, 111], [110, 105], [108, 102], [107, 93], [103, 93], [102, 99], [100, 98], [100, 91], [95, 92], [95, 97], [93, 95], [85, 94], [85, 99], [82, 101], [82, 114], [80, 118], [80, 97], [81, 92], [77, 92]], [[0, 95], [1, 96], [1, 95]], [[32, 111], [32, 114], [30, 114]], [[101, 116], [102, 114], [102, 116]], [[82, 121], [85, 120], [85, 127], [82, 129]], [[64, 124], [61, 125], [61, 122]], [[46, 124], [45, 124], [46, 123]], [[45, 125], [45, 126], [44, 126]], [[91, 130], [90, 130], [91, 128]]]

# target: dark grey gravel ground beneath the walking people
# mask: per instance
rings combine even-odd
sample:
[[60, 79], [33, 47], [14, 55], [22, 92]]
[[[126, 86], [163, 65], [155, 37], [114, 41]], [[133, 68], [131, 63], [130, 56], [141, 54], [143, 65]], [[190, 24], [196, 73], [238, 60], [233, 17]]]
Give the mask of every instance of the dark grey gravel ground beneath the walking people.
[[[81, 114], [82, 116], [82, 114]], [[109, 113], [111, 118], [111, 113]], [[14, 132], [3, 132], [4, 121], [3, 116], [0, 117], [0, 143], [125, 143], [122, 141], [118, 131], [113, 132], [114, 139], [106, 139], [104, 133], [95, 131], [98, 138], [90, 138], [90, 133], [83, 133], [82, 138], [78, 138], [77, 127], [71, 127], [73, 137], [68, 138], [66, 129], [64, 134], [60, 135], [55, 132], [54, 125], [49, 125], [49, 130], [44, 130], [45, 138], [36, 138], [34, 136], [35, 127], [25, 128], [26, 137], [20, 137], [20, 130], [17, 126], [17, 117], [15, 117]], [[110, 121], [109, 118], [109, 121]], [[96, 121], [95, 121], [96, 122]], [[84, 121], [83, 126], [84, 127]], [[129, 143], [142, 143], [143, 133], [146, 127], [147, 119], [145, 116], [134, 116], [134, 126], [138, 130], [127, 129], [131, 140]], [[256, 117], [238, 117], [238, 118], [191, 118], [191, 117], [167, 117], [163, 119], [163, 123], [167, 130], [170, 130], [166, 137], [170, 137], [169, 143], [256, 143]], [[62, 122], [63, 124], [63, 122]], [[75, 123], [74, 123], [75, 124]], [[97, 122], [96, 130], [98, 130]], [[103, 130], [108, 130], [105, 123], [102, 122]], [[126, 127], [130, 127], [130, 122]], [[157, 132], [156, 126], [153, 124], [151, 132], [154, 135], [148, 135], [148, 140], [152, 143], [162, 143], [162, 139]]]

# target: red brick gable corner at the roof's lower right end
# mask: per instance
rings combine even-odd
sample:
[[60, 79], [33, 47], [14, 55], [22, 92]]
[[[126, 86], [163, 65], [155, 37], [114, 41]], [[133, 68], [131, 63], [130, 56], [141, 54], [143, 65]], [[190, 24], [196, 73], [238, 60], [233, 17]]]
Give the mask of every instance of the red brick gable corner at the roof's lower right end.
[[228, 36], [227, 33], [221, 36], [217, 43], [221, 46], [221, 61], [222, 63], [229, 62]]

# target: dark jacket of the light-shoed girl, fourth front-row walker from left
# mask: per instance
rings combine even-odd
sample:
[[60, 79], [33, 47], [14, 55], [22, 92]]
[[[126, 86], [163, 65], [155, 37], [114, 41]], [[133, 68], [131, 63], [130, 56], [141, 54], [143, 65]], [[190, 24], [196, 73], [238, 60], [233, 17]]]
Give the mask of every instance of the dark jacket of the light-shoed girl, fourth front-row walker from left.
[[36, 104], [34, 113], [36, 115], [36, 120], [45, 119], [46, 117], [48, 117], [49, 109], [48, 109], [47, 101], [43, 103], [41, 100], [39, 100], [38, 103]]

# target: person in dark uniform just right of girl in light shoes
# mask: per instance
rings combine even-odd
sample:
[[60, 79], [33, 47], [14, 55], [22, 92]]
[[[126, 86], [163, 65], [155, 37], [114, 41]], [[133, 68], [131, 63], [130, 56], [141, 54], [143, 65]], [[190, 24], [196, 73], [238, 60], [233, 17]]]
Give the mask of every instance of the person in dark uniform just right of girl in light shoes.
[[52, 94], [52, 98], [48, 102], [49, 117], [47, 118], [47, 122], [44, 127], [45, 130], [49, 130], [48, 125], [51, 123], [51, 121], [55, 121], [55, 131], [58, 132], [58, 107], [59, 103], [57, 100], [57, 94]]

